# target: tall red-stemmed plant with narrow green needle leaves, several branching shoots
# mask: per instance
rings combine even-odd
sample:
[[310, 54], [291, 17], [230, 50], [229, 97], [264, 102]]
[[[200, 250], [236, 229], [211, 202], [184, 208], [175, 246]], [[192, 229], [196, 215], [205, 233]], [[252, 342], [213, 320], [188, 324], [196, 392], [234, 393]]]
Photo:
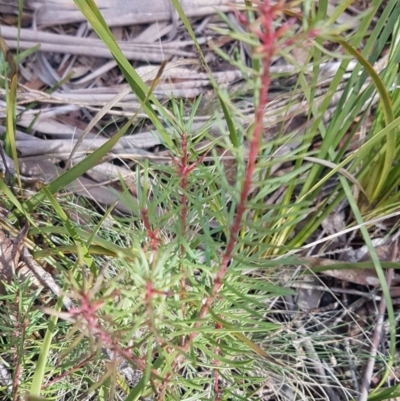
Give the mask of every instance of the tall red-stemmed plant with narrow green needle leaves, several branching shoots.
[[[186, 362], [189, 359], [196, 359], [198, 355], [209, 357], [210, 354], [211, 358], [207, 359], [206, 364], [211, 367], [214, 374], [212, 391], [216, 400], [222, 398], [220, 386], [224, 377], [221, 373], [223, 369], [220, 360], [229, 359], [230, 355], [226, 355], [227, 343], [224, 338], [226, 327], [219, 321], [215, 323], [213, 314], [216, 313], [220, 316], [221, 322], [226, 319], [226, 315], [224, 315], [224, 309], [220, 315], [218, 307], [215, 310], [211, 308], [213, 304], [217, 305], [219, 301], [223, 303], [225, 300], [225, 293], [222, 294], [221, 290], [224, 283], [226, 286], [228, 284], [229, 266], [235, 257], [235, 248], [240, 241], [240, 230], [247, 228], [246, 212], [249, 209], [249, 196], [254, 185], [253, 177], [258, 167], [257, 161], [262, 148], [263, 119], [271, 85], [270, 65], [273, 56], [281, 46], [291, 43], [291, 39], [285, 39], [284, 35], [293, 22], [290, 20], [275, 28], [276, 18], [282, 11], [283, 3], [272, 6], [270, 1], [264, 1], [257, 2], [255, 5], [255, 12], [258, 17], [257, 26], [241, 17], [242, 22], [259, 41], [259, 45], [253, 49], [255, 57], [261, 60], [260, 71], [254, 74], [258, 81], [258, 89], [255, 93], [257, 99], [255, 120], [252, 130], [249, 130], [246, 138], [248, 154], [241, 188], [237, 198], [234, 197], [233, 201], [233, 217], [231, 220], [225, 220], [230, 223], [226, 223], [229, 228], [224, 231], [227, 234], [224, 237], [225, 244], [222, 251], [221, 242], [218, 242], [219, 239], [212, 242], [214, 238], [209, 235], [207, 245], [211, 244], [209, 255], [211, 255], [210, 259], [212, 260], [208, 264], [194, 261], [194, 258], [199, 255], [199, 252], [196, 252], [197, 248], [200, 248], [199, 243], [201, 246], [203, 244], [201, 241], [195, 241], [196, 245], [192, 247], [190, 243], [189, 239], [192, 239], [192, 232], [194, 231], [192, 227], [193, 216], [200, 218], [210, 216], [211, 213], [210, 215], [201, 214], [204, 207], [202, 202], [204, 198], [213, 196], [209, 188], [198, 189], [196, 187], [198, 181], [196, 180], [202, 177], [202, 174], [204, 176], [207, 173], [210, 174], [211, 169], [207, 170], [208, 166], [203, 165], [207, 152], [198, 156], [194, 150], [196, 142], [193, 137], [195, 134], [192, 134], [190, 124], [186, 125], [182, 118], [180, 129], [178, 129], [179, 134], [175, 137], [179, 140], [179, 146], [176, 147], [174, 155], [172, 155], [172, 167], [164, 166], [166, 174], [161, 176], [158, 181], [160, 185], [157, 188], [159, 193], [162, 193], [160, 196], [162, 201], [156, 205], [162, 205], [165, 210], [168, 210], [166, 213], [168, 217], [158, 214], [151, 215], [149, 210], [155, 210], [156, 207], [154, 204], [151, 207], [146, 202], [153, 200], [153, 194], [151, 199], [150, 197], [147, 198], [146, 195], [145, 201], [138, 208], [138, 221], [141, 227], [144, 227], [144, 232], [141, 232], [141, 235], [145, 245], [139, 246], [143, 265], [140, 265], [141, 262], [136, 260], [130, 259], [129, 261], [131, 265], [135, 265], [135, 263], [137, 265], [130, 266], [134, 278], [130, 281], [131, 288], [125, 293], [130, 291], [133, 294], [134, 304], [138, 299], [140, 300], [138, 302], [140, 307], [135, 304], [134, 313], [137, 315], [134, 316], [133, 321], [135, 324], [138, 322], [137, 326], [135, 325], [135, 330], [143, 335], [144, 339], [141, 339], [139, 343], [147, 345], [146, 350], [136, 351], [140, 355], [140, 357], [136, 357], [131, 348], [120, 345], [124, 339], [115, 331], [111, 332], [106, 329], [107, 326], [102, 322], [106, 316], [99, 313], [105, 306], [106, 300], [101, 297], [94, 299], [94, 294], [90, 291], [81, 291], [76, 297], [79, 300], [78, 306], [68, 312], [69, 316], [79, 322], [81, 328], [83, 327], [99, 340], [100, 344], [114, 351], [117, 355], [130, 360], [143, 372], [146, 371], [148, 367], [146, 365], [150, 363], [149, 361], [153, 363], [154, 359], [161, 355], [164, 358], [163, 363], [168, 364], [167, 369], [160, 369], [160, 371], [153, 367], [149, 369], [151, 384], [154, 384], [154, 378], [160, 380], [157, 388], [157, 397], [160, 400], [166, 396], [167, 390], [172, 388], [171, 383], [174, 382], [175, 375], [178, 376], [185, 369]], [[204, 182], [207, 183], [207, 180]], [[168, 186], [169, 184], [170, 186]], [[218, 191], [218, 185], [216, 188]], [[167, 192], [164, 191], [165, 189]], [[166, 196], [164, 196], [165, 193]], [[197, 194], [200, 196], [196, 197]], [[224, 205], [222, 202], [221, 204], [223, 209]], [[221, 215], [223, 214], [224, 211], [221, 212]], [[199, 236], [201, 236], [205, 227], [202, 227], [200, 223], [198, 226], [201, 227], [199, 230]], [[166, 232], [172, 232], [169, 237], [172, 238], [171, 243], [163, 242], [163, 239], [167, 238], [167, 236], [161, 235], [163, 234], [161, 230], [164, 229]], [[194, 232], [198, 233], [197, 231]], [[191, 252], [192, 255], [190, 255]], [[175, 264], [172, 262], [169, 264], [168, 258], [163, 259], [166, 254], [171, 255], [171, 259], [175, 258]], [[239, 306], [235, 305], [235, 307], [240, 309]], [[112, 319], [112, 316], [110, 318]], [[235, 319], [236, 317], [232, 317], [232, 321]], [[207, 333], [210, 328], [214, 330], [212, 336], [217, 333], [218, 339], [214, 340], [213, 337], [211, 344], [209, 342], [204, 345], [199, 341], [202, 337], [200, 334]], [[196, 360], [193, 366], [201, 362]], [[160, 379], [160, 376], [163, 377]]]

